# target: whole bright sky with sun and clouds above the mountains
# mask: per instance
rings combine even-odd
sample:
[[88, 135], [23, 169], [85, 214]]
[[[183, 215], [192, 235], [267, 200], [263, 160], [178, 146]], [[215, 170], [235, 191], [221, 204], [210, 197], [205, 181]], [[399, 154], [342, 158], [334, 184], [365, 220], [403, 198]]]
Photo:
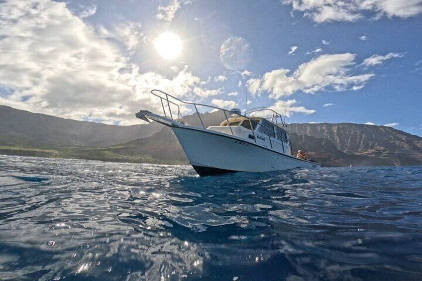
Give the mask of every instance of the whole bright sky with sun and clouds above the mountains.
[[422, 136], [422, 0], [1, 0], [0, 65], [0, 104], [64, 118], [137, 124], [159, 89]]

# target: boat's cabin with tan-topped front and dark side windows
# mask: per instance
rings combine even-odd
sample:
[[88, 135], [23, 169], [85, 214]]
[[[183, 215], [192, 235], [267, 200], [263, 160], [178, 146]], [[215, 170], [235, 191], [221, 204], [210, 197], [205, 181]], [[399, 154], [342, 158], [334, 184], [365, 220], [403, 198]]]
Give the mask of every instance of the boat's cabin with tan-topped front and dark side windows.
[[274, 151], [292, 155], [289, 133], [262, 117], [248, 119], [237, 116], [224, 120], [219, 126], [210, 126], [207, 129], [234, 135]]

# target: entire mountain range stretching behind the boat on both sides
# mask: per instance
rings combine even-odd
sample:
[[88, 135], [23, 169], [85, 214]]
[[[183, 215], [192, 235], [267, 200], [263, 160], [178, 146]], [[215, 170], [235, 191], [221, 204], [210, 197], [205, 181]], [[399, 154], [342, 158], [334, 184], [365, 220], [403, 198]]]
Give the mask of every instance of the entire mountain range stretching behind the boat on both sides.
[[[134, 117], [135, 118], [135, 117]], [[201, 114], [205, 127], [223, 112]], [[135, 163], [188, 164], [176, 137], [158, 123], [133, 126], [75, 121], [0, 106], [0, 153]], [[198, 114], [184, 121], [202, 126]], [[140, 121], [141, 122], [141, 121]], [[293, 151], [323, 166], [422, 165], [422, 138], [391, 127], [353, 123], [290, 124]]]

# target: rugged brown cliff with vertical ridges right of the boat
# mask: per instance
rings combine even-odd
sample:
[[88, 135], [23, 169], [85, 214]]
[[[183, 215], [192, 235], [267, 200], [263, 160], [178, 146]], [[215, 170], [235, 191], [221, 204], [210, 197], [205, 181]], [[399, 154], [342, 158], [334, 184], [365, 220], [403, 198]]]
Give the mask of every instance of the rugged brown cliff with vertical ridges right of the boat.
[[[346, 154], [341, 157], [344, 159], [343, 162], [348, 161], [352, 165], [422, 164], [422, 138], [391, 127], [353, 123], [319, 123], [290, 124], [288, 128], [292, 132], [295, 151], [296, 148], [302, 147], [311, 154], [318, 154], [317, 158], [322, 157], [320, 154], [325, 152], [322, 149], [324, 146], [315, 147], [317, 142], [315, 139], [300, 137], [296, 140], [295, 134], [329, 141], [339, 152]], [[309, 145], [313, 145], [313, 149], [308, 149]], [[347, 163], [341, 166], [345, 165]]]

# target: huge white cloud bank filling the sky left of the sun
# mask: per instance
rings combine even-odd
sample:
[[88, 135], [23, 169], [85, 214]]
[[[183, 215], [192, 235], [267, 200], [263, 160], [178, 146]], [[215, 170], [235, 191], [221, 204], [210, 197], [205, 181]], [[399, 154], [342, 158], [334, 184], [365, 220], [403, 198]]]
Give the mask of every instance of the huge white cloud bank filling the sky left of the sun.
[[133, 124], [140, 108], [160, 109], [149, 92], [204, 98], [187, 67], [172, 78], [139, 73], [115, 41], [55, 1], [0, 3], [0, 82], [10, 94], [0, 104], [73, 119]]

